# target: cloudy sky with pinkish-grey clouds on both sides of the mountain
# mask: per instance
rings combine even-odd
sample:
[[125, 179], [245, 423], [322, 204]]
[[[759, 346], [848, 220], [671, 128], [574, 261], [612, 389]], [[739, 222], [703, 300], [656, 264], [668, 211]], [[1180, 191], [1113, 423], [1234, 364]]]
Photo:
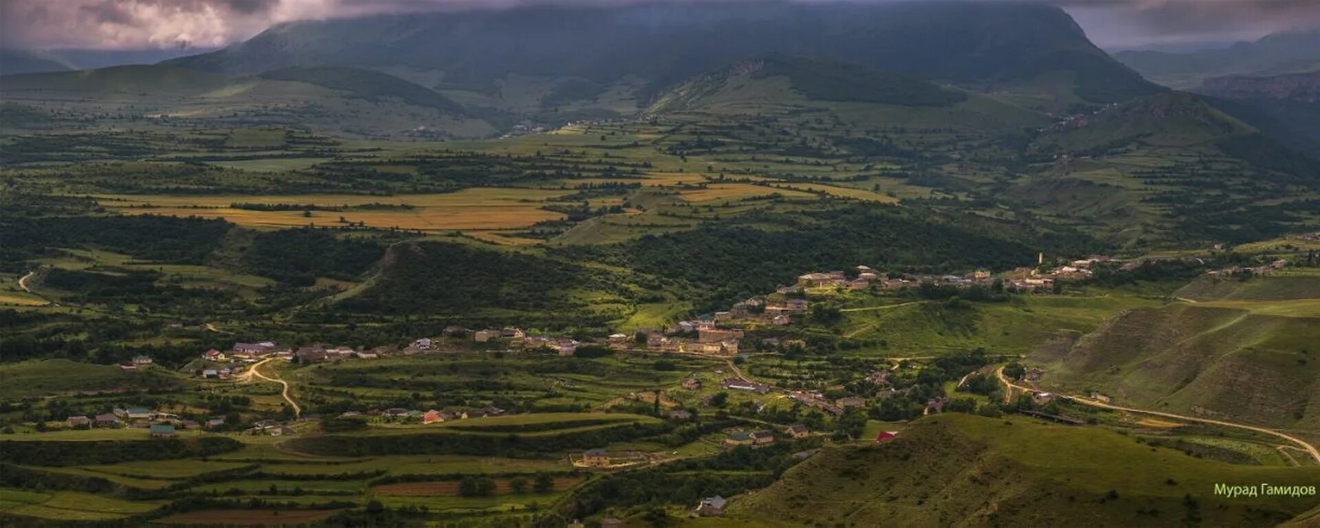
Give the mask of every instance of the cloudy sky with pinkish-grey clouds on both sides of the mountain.
[[[282, 21], [517, 1], [627, 0], [0, 0], [0, 46], [214, 48]], [[1276, 30], [1320, 28], [1320, 0], [1027, 1], [1063, 7], [1104, 48], [1251, 40]]]

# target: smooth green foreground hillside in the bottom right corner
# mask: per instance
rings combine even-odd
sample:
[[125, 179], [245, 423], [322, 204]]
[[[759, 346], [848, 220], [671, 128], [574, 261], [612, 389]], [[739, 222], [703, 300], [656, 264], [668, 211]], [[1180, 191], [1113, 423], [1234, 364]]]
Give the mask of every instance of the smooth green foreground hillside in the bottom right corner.
[[1228, 499], [1214, 484], [1316, 477], [1192, 458], [1092, 426], [940, 414], [887, 445], [824, 450], [729, 510], [775, 525], [1272, 525], [1317, 499]]

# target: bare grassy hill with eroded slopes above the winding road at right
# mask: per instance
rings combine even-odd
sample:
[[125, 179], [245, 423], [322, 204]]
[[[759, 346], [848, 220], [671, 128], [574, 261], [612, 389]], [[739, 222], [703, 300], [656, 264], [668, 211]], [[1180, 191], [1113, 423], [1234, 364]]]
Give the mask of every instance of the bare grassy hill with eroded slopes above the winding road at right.
[[1191, 302], [1121, 315], [1064, 350], [1041, 350], [1041, 385], [1115, 403], [1276, 426], [1320, 424], [1320, 277], [1203, 277]]

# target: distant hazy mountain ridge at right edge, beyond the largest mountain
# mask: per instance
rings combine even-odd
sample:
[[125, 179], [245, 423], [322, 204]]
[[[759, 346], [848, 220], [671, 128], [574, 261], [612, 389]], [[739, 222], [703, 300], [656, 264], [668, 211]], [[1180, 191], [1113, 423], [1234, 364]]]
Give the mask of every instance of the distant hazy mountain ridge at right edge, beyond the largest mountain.
[[1212, 77], [1320, 69], [1320, 30], [1275, 33], [1254, 42], [1195, 53], [1119, 51], [1114, 58], [1160, 84], [1195, 88]]

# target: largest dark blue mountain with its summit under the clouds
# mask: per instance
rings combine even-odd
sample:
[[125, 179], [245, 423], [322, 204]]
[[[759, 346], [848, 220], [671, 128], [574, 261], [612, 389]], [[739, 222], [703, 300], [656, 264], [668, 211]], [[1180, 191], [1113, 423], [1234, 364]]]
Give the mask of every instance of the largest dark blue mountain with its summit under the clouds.
[[168, 63], [220, 73], [399, 69], [467, 86], [488, 86], [510, 74], [598, 83], [635, 75], [649, 81], [655, 92], [763, 53], [829, 58], [978, 88], [1061, 73], [1089, 102], [1156, 90], [1088, 41], [1061, 9], [966, 1], [517, 7], [302, 21]]

